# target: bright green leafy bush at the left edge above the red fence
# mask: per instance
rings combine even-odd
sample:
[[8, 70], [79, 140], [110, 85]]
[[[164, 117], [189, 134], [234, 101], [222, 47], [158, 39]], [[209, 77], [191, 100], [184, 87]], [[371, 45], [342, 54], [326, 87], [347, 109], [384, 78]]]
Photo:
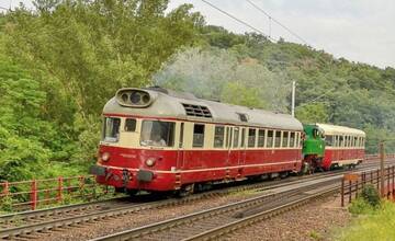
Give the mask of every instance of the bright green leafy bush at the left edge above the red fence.
[[50, 158], [46, 138], [54, 127], [41, 116], [40, 83], [0, 59], [0, 180], [31, 179]]

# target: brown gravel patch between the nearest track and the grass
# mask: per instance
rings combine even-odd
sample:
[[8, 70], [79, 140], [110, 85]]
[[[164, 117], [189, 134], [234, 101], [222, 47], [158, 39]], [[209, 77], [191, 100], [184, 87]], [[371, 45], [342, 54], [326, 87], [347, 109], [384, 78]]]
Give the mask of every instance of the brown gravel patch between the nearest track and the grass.
[[350, 219], [347, 208], [340, 207], [339, 197], [331, 196], [238, 230], [222, 240], [331, 240], [336, 229]]

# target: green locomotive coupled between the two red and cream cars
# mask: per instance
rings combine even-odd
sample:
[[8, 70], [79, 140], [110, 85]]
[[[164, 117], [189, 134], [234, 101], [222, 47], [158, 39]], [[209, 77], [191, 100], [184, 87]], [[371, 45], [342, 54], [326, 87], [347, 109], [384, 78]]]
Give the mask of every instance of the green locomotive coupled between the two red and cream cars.
[[316, 124], [304, 124], [305, 140], [303, 141], [303, 172], [312, 173], [318, 169], [324, 160], [324, 130]]

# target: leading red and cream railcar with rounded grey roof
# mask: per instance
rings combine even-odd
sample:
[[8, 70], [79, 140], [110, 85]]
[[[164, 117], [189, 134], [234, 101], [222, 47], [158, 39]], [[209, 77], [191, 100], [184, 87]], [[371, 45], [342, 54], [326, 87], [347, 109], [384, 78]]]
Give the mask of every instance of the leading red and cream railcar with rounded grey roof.
[[286, 175], [303, 165], [296, 118], [161, 88], [121, 89], [104, 106], [101, 184], [131, 193]]

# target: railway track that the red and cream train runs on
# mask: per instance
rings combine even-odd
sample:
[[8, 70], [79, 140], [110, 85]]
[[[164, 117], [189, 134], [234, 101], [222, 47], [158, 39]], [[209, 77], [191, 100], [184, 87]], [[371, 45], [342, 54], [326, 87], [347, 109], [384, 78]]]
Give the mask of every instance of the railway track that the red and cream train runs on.
[[[366, 167], [376, 167], [377, 163], [369, 163]], [[360, 168], [362, 169], [362, 168]], [[245, 190], [260, 190], [268, 191], [273, 188], [281, 188], [290, 184], [304, 183], [323, 179], [324, 176], [330, 177], [340, 175], [345, 171], [336, 173], [317, 173], [315, 175], [307, 175], [302, 177], [291, 177], [282, 181], [257, 183], [249, 185], [240, 185], [236, 187], [215, 190], [202, 194], [192, 195], [182, 199], [165, 199], [155, 200], [149, 203], [131, 203], [131, 199], [97, 202], [93, 204], [70, 205], [58, 208], [49, 208], [36, 211], [24, 211], [20, 214], [0, 216], [0, 238], [35, 238], [40, 232], [47, 232], [59, 228], [67, 228], [92, 221], [100, 221], [109, 217], [119, 217], [128, 215], [146, 209], [162, 208], [167, 206], [176, 206], [184, 203], [208, 198], [217, 195], [226, 195], [233, 192], [240, 192]]]

